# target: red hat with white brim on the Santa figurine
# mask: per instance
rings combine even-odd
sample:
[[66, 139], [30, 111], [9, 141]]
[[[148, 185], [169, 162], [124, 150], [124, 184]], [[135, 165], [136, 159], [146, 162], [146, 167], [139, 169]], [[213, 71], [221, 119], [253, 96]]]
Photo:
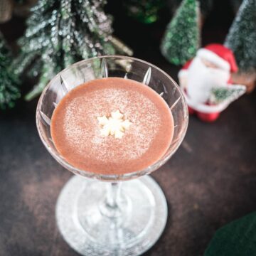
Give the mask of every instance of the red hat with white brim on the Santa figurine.
[[238, 71], [233, 51], [218, 43], [212, 43], [199, 49], [196, 55], [218, 65], [223, 70], [229, 70], [231, 73]]

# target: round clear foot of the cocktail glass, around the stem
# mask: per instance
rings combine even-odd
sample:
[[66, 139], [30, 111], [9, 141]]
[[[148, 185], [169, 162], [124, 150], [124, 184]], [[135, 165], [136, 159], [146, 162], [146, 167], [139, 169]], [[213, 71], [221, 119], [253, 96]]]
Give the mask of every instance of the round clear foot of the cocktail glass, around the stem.
[[60, 233], [81, 255], [141, 255], [166, 225], [163, 191], [150, 176], [122, 182], [120, 211], [113, 218], [102, 209], [106, 186], [80, 176], [66, 183], [56, 206]]

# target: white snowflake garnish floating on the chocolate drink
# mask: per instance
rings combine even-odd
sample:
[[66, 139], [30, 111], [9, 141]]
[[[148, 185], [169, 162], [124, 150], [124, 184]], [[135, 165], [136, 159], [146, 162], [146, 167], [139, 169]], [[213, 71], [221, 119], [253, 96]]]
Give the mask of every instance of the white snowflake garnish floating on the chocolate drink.
[[124, 118], [124, 114], [119, 110], [111, 112], [110, 117], [97, 117], [97, 120], [102, 127], [100, 134], [104, 137], [114, 135], [115, 138], [121, 139], [124, 136], [124, 132], [129, 129], [132, 122]]

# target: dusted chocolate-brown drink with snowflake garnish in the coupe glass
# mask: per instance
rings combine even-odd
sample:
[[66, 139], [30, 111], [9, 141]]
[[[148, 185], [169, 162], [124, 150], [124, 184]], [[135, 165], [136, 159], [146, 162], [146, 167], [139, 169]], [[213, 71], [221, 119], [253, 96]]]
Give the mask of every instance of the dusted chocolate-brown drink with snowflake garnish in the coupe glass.
[[53, 112], [50, 132], [71, 165], [96, 174], [127, 174], [161, 159], [174, 119], [150, 87], [124, 78], [85, 82]]

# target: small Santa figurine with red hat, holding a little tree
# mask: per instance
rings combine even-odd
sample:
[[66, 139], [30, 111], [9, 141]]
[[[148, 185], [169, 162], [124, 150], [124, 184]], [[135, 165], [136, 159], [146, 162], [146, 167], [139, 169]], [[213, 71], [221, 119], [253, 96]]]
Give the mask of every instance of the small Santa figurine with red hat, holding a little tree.
[[199, 49], [178, 73], [189, 113], [205, 122], [215, 121], [245, 92], [245, 86], [232, 85], [231, 73], [237, 71], [232, 50], [217, 43]]

